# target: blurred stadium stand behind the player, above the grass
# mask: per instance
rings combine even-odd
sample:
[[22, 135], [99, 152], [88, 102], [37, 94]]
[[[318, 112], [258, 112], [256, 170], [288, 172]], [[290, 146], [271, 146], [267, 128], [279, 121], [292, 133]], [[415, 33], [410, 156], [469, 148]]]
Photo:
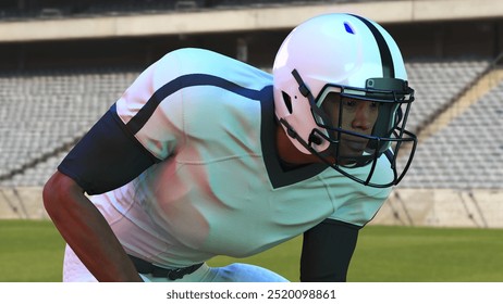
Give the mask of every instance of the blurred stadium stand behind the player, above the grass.
[[47, 219], [46, 180], [164, 53], [206, 48], [270, 72], [289, 31], [327, 12], [387, 28], [416, 90], [416, 156], [372, 224], [502, 228], [500, 0], [2, 0], [0, 219]]

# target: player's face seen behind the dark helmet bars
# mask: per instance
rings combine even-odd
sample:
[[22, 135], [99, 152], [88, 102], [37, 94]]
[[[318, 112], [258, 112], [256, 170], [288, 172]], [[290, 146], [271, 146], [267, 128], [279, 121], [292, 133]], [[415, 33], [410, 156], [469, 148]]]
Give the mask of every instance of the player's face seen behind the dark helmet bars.
[[[331, 93], [323, 102], [323, 110], [329, 113], [334, 126], [340, 125], [342, 129], [369, 136], [378, 118], [379, 103], [348, 98], [341, 100], [338, 94]], [[339, 154], [347, 157], [360, 156], [367, 143], [368, 139], [363, 137], [341, 134]]]

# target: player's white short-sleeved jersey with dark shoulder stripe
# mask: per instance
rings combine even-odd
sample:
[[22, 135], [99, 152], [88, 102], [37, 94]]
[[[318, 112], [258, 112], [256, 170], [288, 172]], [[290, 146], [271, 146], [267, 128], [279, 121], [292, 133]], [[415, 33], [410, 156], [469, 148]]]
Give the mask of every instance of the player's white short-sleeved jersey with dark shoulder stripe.
[[[323, 164], [284, 168], [271, 75], [210, 51], [167, 54], [111, 111], [158, 162], [90, 198], [127, 253], [159, 265], [249, 256], [327, 218], [364, 226], [391, 191]], [[389, 180], [388, 159], [378, 166], [372, 181]], [[365, 179], [368, 168], [351, 173]]]

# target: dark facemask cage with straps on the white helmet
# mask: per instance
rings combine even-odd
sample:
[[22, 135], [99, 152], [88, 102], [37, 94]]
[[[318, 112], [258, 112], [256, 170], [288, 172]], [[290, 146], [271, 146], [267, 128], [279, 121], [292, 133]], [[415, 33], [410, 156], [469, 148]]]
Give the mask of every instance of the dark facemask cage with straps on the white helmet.
[[[369, 78], [365, 89], [328, 84], [315, 98], [297, 71], [294, 69], [292, 74], [299, 85], [300, 93], [310, 103], [317, 125], [307, 141], [298, 136], [295, 139], [311, 154], [353, 180], [378, 188], [398, 183], [408, 169], [416, 148], [416, 137], [405, 129], [410, 103], [414, 101], [414, 90], [407, 81]], [[364, 115], [363, 124], [367, 125], [353, 125], [358, 124], [355, 123], [355, 115]], [[323, 141], [329, 142], [329, 145], [319, 151], [316, 147]], [[410, 142], [413, 147], [408, 162], [398, 173], [396, 159], [404, 142]], [[378, 185], [371, 182], [371, 178], [377, 161], [383, 153], [390, 160], [393, 180]], [[366, 178], [348, 173], [348, 169], [367, 165], [369, 170]]]

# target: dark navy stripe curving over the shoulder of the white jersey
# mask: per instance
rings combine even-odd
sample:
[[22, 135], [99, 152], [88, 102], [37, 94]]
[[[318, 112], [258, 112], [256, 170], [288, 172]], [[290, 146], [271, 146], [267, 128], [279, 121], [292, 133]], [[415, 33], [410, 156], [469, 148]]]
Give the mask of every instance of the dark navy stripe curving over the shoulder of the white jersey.
[[147, 101], [147, 103], [138, 111], [138, 113], [126, 124], [127, 128], [137, 134], [144, 125], [148, 122], [150, 116], [156, 111], [157, 106], [170, 94], [187, 87], [194, 86], [214, 86], [219, 87], [240, 96], [253, 100], [260, 100], [261, 91], [244, 88], [232, 81], [223, 79], [214, 75], [207, 74], [188, 74], [180, 76], [172, 81], [159, 88]]

